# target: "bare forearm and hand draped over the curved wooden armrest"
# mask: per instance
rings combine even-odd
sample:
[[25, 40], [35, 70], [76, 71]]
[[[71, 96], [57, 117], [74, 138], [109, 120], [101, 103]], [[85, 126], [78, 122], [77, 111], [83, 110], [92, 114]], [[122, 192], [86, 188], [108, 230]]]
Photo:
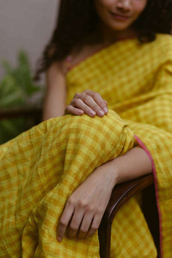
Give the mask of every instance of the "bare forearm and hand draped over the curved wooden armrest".
[[99, 227], [114, 186], [151, 172], [151, 161], [140, 147], [95, 169], [69, 197], [60, 218], [57, 240], [63, 239], [70, 220], [70, 238], [76, 236], [78, 230], [79, 238], [92, 236]]

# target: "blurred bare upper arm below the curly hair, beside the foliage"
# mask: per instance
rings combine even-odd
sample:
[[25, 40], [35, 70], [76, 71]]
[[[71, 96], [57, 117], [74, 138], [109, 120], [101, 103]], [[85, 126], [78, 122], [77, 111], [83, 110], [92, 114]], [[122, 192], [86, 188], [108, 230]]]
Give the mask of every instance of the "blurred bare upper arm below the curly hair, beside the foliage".
[[44, 103], [43, 121], [62, 116], [66, 106], [66, 79], [62, 63], [53, 63], [47, 71], [47, 91]]

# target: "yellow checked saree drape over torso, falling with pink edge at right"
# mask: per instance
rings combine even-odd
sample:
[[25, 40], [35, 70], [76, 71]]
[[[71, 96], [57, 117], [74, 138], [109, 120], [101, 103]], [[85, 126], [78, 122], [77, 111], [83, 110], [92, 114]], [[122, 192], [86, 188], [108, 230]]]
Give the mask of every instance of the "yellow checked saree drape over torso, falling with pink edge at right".
[[67, 81], [67, 103], [73, 92], [99, 92], [148, 153], [159, 209], [161, 257], [171, 257], [172, 37], [158, 34], [146, 44], [136, 38], [115, 42], [71, 69]]

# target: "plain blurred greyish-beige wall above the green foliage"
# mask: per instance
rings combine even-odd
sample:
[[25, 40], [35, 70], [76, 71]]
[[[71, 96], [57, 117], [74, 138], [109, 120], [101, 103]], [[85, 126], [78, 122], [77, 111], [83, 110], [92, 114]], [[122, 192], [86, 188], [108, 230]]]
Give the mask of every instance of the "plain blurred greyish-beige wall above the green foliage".
[[[19, 49], [29, 53], [32, 68], [51, 36], [59, 0], [0, 0], [0, 61], [16, 63]], [[3, 75], [0, 66], [0, 78]]]

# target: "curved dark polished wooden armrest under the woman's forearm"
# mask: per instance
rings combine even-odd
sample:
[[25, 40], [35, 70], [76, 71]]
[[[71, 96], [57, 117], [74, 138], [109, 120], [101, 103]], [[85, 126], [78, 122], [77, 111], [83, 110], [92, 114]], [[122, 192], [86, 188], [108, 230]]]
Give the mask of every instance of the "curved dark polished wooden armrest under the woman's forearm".
[[149, 174], [114, 187], [98, 229], [101, 258], [110, 258], [111, 226], [118, 210], [132, 196], [153, 183], [153, 174]]

